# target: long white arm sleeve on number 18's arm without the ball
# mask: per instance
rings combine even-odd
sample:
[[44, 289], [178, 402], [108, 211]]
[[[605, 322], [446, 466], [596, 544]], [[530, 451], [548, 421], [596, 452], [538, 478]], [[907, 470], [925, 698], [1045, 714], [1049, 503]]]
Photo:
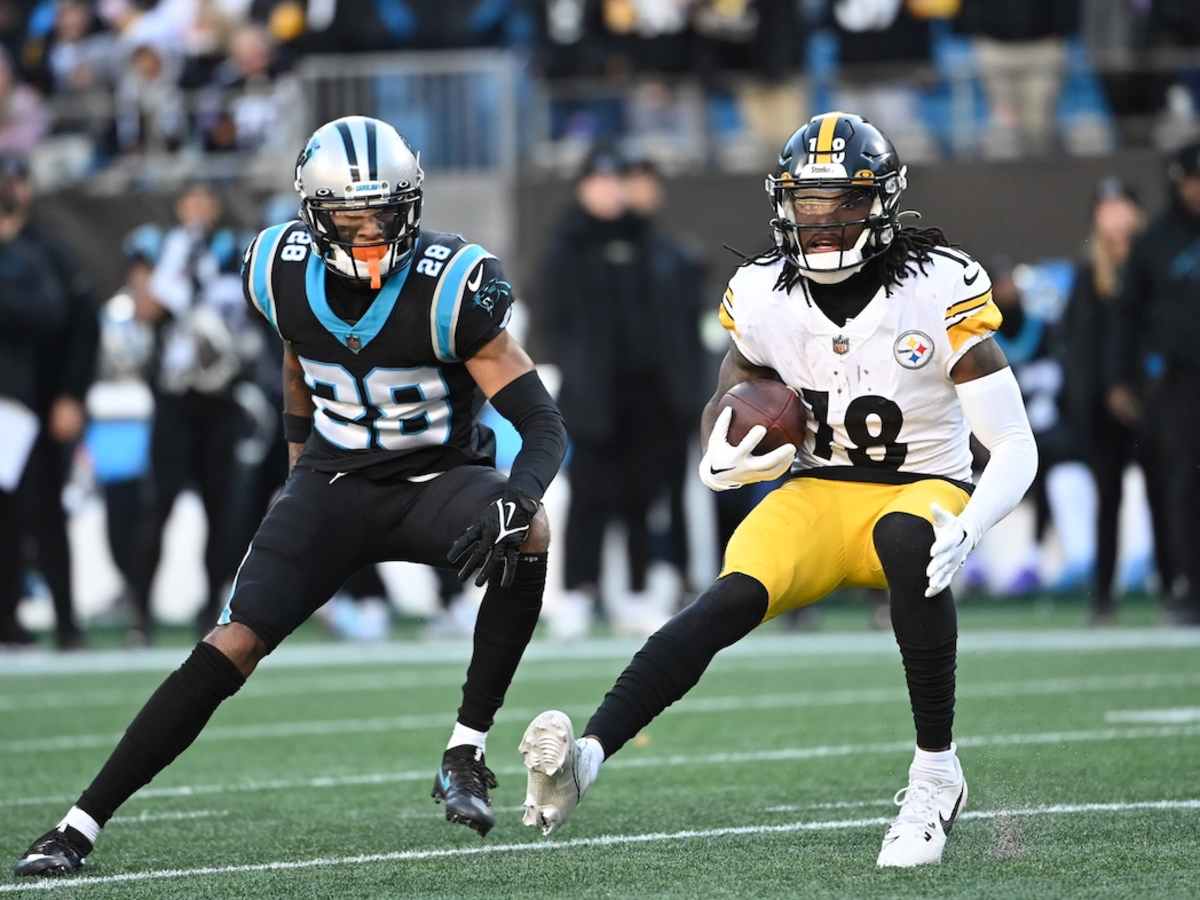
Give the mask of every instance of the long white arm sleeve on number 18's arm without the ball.
[[978, 541], [1007, 516], [1033, 484], [1038, 445], [1025, 415], [1021, 389], [1013, 370], [1004, 367], [983, 378], [955, 385], [971, 431], [991, 451], [983, 476], [959, 520]]

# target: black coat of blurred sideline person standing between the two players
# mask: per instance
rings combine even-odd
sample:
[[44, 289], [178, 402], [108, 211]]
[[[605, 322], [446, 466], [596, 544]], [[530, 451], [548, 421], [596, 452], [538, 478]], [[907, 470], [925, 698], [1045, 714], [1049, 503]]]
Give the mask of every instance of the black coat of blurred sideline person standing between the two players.
[[618, 421], [616, 385], [647, 371], [656, 376], [647, 390], [662, 391], [676, 421], [695, 422], [703, 270], [678, 244], [644, 220], [604, 222], [575, 209], [550, 247], [541, 287], [572, 438], [606, 440], [637, 427]]

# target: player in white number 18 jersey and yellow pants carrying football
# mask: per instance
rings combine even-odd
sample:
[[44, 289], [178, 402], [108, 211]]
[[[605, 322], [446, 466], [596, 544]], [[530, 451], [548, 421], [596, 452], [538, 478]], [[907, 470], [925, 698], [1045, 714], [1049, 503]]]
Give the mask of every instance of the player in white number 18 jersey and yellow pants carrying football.
[[[701, 430], [714, 491], [790, 478], [746, 517], [718, 581], [653, 635], [575, 739], [542, 713], [526, 730], [524, 822], [566, 821], [600, 766], [760, 623], [844, 584], [882, 588], [904, 659], [916, 751], [877, 864], [938, 863], [967, 799], [952, 739], [958, 625], [950, 578], [1037, 469], [1021, 394], [991, 340], [988, 274], [935, 228], [900, 223], [905, 167], [857, 115], [797, 131], [767, 179], [775, 246], [730, 281], [732, 342]], [[803, 446], [727, 442], [739, 382], [776, 379], [808, 409]], [[991, 451], [972, 485], [970, 434]]]

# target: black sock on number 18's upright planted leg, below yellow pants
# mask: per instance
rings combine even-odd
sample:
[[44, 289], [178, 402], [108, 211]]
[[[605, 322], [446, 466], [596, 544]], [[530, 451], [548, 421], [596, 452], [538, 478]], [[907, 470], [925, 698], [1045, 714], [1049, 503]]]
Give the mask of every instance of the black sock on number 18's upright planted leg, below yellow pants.
[[917, 746], [949, 748], [954, 727], [958, 611], [949, 588], [937, 596], [925, 596], [934, 527], [920, 516], [889, 512], [875, 524], [874, 538], [892, 594], [892, 628], [908, 680]]

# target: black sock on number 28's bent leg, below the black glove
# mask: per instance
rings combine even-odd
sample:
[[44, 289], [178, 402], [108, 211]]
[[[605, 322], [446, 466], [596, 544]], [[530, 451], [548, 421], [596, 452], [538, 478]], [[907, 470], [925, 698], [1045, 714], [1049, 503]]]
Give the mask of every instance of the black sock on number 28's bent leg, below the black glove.
[[533, 637], [546, 589], [546, 553], [522, 553], [512, 584], [493, 580], [475, 619], [475, 647], [462, 685], [458, 721], [487, 731]]

